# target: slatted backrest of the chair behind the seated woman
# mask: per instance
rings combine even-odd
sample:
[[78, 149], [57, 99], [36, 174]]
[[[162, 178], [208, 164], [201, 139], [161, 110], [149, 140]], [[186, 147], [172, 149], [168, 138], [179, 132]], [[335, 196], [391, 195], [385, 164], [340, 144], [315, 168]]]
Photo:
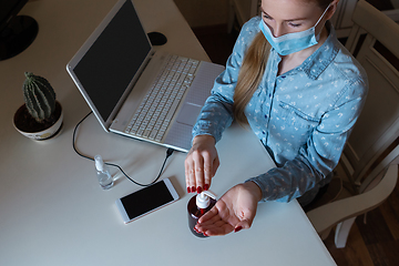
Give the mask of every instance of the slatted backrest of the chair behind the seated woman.
[[369, 93], [341, 158], [360, 184], [399, 135], [399, 24], [364, 0], [352, 20], [346, 48], [365, 68]]

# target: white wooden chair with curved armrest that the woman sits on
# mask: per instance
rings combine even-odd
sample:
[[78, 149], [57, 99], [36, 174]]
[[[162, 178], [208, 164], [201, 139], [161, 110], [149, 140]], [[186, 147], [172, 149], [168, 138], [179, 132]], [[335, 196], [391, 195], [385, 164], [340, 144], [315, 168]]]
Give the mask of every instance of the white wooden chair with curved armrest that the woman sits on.
[[399, 66], [396, 64], [399, 61], [389, 62], [388, 59], [399, 58], [399, 25], [364, 0], [358, 2], [352, 20], [355, 25], [346, 47], [362, 64], [369, 79], [365, 108], [340, 162], [356, 195], [307, 213], [323, 239], [337, 225], [337, 247], [345, 247], [356, 216], [381, 204], [398, 178]]

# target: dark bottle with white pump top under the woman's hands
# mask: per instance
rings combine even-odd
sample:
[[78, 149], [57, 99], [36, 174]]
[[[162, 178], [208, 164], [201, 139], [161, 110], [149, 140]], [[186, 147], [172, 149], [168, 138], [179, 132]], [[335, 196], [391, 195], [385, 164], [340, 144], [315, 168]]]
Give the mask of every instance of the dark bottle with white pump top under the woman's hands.
[[197, 224], [198, 218], [208, 212], [216, 204], [216, 195], [211, 191], [203, 191], [201, 194], [193, 196], [188, 204], [188, 227], [190, 231], [198, 237], [206, 237], [201, 233], [196, 233], [194, 226]]

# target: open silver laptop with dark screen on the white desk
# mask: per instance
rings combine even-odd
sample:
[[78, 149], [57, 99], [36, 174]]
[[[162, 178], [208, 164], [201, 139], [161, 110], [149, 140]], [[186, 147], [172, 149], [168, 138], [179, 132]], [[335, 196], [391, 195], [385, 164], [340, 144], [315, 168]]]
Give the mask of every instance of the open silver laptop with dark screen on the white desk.
[[155, 51], [133, 2], [120, 0], [66, 71], [106, 132], [187, 152], [224, 66]]

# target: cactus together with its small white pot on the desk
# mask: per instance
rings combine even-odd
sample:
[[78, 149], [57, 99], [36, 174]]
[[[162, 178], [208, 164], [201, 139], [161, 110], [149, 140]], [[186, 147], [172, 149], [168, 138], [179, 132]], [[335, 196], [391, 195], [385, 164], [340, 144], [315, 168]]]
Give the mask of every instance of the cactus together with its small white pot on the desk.
[[13, 117], [14, 127], [24, 136], [42, 141], [60, 132], [63, 120], [61, 104], [44, 78], [25, 72], [22, 85], [24, 104]]

